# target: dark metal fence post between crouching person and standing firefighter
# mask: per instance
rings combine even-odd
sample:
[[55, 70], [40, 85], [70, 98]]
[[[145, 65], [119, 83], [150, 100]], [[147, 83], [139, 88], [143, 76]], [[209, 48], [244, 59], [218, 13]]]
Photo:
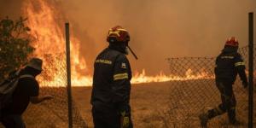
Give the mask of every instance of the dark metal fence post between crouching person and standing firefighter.
[[70, 40], [69, 40], [69, 23], [65, 24], [66, 28], [66, 54], [67, 54], [67, 101], [68, 101], [68, 127], [73, 128], [72, 116], [72, 93], [71, 93], [71, 70], [70, 70]]

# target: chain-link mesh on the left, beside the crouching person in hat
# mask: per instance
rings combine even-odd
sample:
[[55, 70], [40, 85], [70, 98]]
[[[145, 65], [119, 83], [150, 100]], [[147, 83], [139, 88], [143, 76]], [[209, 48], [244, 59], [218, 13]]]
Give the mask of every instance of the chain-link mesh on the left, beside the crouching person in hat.
[[[44, 55], [44, 71], [38, 76], [40, 96], [51, 95], [54, 99], [37, 105], [30, 104], [24, 113], [28, 128], [68, 127], [67, 67], [66, 54]], [[87, 127], [75, 102], [73, 102], [73, 127]]]

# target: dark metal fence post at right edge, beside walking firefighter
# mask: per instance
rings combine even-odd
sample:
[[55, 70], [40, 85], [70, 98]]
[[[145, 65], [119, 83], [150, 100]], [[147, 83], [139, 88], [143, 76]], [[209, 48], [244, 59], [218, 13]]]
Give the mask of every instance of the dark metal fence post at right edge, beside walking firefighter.
[[249, 13], [249, 102], [248, 128], [253, 128], [253, 12]]

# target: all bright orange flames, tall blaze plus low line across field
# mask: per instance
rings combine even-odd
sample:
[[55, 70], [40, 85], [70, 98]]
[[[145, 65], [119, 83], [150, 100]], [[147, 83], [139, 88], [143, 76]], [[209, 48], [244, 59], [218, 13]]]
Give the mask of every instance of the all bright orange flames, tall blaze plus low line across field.
[[[64, 39], [64, 18], [58, 10], [44, 0], [26, 0], [23, 6], [24, 14], [28, 17], [27, 26], [32, 28], [31, 34], [35, 37], [32, 45], [36, 48], [32, 56], [38, 56], [44, 60], [43, 76], [38, 80], [43, 86], [66, 85], [66, 55]], [[72, 29], [71, 29], [72, 30]], [[92, 75], [81, 74], [89, 70], [84, 57], [80, 56], [80, 41], [71, 35], [71, 73], [72, 84], [91, 85]], [[132, 84], [164, 82], [170, 80], [212, 79], [209, 73], [192, 74], [189, 69], [185, 76], [166, 75], [159, 73], [156, 76], [147, 76], [145, 70], [135, 73]]]

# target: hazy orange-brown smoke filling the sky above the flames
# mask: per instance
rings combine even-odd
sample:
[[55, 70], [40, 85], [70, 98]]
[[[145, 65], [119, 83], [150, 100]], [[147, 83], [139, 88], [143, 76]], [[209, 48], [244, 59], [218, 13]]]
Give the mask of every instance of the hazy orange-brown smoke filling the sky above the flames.
[[[96, 55], [108, 46], [112, 26], [124, 26], [131, 34], [130, 46], [139, 58], [128, 55], [133, 70], [169, 73], [167, 57], [215, 56], [230, 36], [247, 45], [247, 13], [256, 13], [253, 0], [55, 1], [80, 40], [80, 57], [90, 71]], [[1, 0], [0, 17], [20, 15], [20, 3]]]

